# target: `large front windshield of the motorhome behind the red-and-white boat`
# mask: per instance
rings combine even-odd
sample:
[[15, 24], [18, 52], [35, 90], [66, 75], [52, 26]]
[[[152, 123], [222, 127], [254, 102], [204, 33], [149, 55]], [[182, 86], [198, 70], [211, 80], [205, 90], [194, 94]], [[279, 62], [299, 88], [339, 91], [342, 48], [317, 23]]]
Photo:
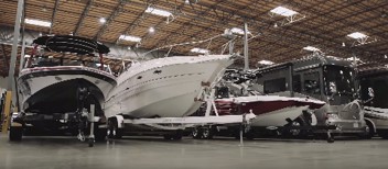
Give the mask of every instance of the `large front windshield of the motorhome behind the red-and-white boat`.
[[355, 71], [351, 67], [324, 66], [324, 90], [326, 95], [338, 94], [355, 98]]

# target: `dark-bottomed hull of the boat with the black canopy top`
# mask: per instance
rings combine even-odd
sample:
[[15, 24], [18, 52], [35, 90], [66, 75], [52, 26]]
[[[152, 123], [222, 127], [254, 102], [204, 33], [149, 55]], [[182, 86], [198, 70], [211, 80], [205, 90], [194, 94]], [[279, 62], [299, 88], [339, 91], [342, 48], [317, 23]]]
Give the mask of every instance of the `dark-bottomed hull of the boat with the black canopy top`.
[[24, 69], [18, 84], [24, 112], [53, 114], [77, 110], [79, 87], [88, 88], [91, 97], [87, 102], [100, 108], [116, 81], [93, 68], [39, 67]]

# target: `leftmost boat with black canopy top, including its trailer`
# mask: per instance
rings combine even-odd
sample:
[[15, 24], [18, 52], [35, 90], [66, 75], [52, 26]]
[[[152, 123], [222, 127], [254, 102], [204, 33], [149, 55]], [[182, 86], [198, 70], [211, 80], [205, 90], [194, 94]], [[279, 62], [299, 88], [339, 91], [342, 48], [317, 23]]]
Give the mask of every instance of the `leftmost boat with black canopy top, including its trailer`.
[[[109, 53], [109, 48], [93, 40], [71, 35], [41, 36], [33, 44], [32, 54], [18, 78], [22, 112], [12, 119], [10, 139], [21, 139], [21, 131], [28, 126], [77, 132], [78, 123], [84, 121], [83, 112], [90, 112], [90, 104], [96, 108], [96, 116], [103, 117], [105, 99], [116, 86], [115, 76], [103, 63], [103, 55]], [[83, 55], [84, 61], [36, 55], [39, 47], [48, 55]], [[99, 54], [97, 64], [93, 61], [95, 54]]]

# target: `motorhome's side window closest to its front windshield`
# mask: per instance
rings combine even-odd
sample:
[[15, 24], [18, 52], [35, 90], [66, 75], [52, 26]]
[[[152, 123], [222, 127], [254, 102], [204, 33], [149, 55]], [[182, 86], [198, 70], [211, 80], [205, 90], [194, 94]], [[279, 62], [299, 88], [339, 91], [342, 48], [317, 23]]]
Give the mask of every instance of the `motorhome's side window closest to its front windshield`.
[[311, 72], [304, 75], [304, 91], [310, 94], [321, 94], [319, 72]]

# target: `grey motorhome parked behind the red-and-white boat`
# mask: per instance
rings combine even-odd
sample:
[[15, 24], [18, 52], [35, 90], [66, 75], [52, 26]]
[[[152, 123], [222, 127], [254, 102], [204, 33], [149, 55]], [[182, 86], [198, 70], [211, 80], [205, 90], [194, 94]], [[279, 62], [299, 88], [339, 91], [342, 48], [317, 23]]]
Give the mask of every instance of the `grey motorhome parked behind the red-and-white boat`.
[[[326, 102], [292, 125], [314, 126], [313, 134], [355, 134], [365, 136], [364, 111], [356, 94], [355, 68], [337, 57], [314, 53], [311, 56], [257, 70], [255, 90], [270, 95], [313, 98]], [[331, 134], [330, 134], [331, 133]], [[300, 134], [300, 133], [299, 133]]]

